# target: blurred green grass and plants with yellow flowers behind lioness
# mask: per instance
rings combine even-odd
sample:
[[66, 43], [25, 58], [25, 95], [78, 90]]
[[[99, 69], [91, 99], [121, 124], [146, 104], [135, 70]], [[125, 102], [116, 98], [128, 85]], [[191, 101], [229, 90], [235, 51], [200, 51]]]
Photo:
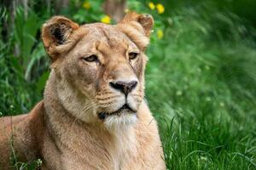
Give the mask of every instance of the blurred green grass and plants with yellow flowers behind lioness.
[[[1, 116], [30, 111], [42, 99], [45, 20], [63, 14], [80, 24], [114, 23], [103, 1], [10, 2], [0, 7]], [[168, 169], [256, 169], [255, 8], [249, 0], [127, 1], [126, 11], [155, 20], [146, 99]]]

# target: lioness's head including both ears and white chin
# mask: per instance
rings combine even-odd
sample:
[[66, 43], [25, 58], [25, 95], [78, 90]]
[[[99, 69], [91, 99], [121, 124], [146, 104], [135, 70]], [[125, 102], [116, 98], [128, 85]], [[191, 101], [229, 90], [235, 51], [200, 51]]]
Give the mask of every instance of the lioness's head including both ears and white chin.
[[44, 24], [50, 77], [55, 77], [58, 98], [68, 112], [107, 127], [137, 121], [153, 23], [148, 14], [130, 13], [117, 25], [79, 26], [62, 16]]

